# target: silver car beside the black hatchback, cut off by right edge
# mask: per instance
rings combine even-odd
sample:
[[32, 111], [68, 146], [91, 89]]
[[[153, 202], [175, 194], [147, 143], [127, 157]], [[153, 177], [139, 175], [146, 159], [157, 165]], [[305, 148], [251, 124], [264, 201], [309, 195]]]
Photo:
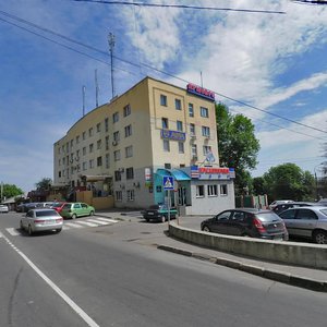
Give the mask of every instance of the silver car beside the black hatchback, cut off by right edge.
[[279, 214], [290, 237], [312, 239], [315, 243], [327, 244], [327, 207], [290, 208]]

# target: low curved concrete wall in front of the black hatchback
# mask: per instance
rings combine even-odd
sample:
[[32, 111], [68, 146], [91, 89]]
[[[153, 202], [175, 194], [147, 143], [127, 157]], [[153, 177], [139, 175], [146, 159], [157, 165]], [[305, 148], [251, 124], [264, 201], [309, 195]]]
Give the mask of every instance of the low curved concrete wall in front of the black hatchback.
[[169, 225], [169, 235], [209, 249], [241, 254], [254, 258], [280, 262], [288, 265], [327, 269], [327, 245], [292, 244], [290, 242], [266, 241], [214, 234]]

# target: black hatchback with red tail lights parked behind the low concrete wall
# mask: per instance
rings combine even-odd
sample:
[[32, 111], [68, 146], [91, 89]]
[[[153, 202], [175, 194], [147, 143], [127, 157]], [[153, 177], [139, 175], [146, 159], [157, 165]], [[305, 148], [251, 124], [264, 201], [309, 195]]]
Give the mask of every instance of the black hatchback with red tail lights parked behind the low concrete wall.
[[225, 210], [201, 223], [201, 230], [220, 234], [268, 240], [288, 240], [283, 220], [270, 210], [237, 208]]

